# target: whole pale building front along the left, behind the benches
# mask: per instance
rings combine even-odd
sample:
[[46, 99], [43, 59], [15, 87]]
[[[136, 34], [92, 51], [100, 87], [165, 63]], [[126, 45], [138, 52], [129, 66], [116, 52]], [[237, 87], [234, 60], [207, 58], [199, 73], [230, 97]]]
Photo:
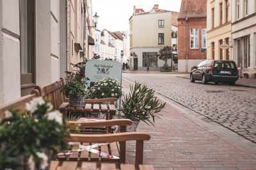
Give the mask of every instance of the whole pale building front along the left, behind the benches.
[[83, 46], [84, 11], [82, 0], [0, 1], [0, 105], [59, 80], [83, 59], [75, 48]]

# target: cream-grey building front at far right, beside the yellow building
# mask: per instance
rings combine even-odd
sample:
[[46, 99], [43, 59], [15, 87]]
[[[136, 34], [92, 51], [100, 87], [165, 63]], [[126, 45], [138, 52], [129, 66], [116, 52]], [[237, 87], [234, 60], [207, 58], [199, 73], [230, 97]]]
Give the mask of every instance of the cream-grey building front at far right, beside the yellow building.
[[239, 75], [256, 78], [256, 1], [232, 2], [232, 47]]

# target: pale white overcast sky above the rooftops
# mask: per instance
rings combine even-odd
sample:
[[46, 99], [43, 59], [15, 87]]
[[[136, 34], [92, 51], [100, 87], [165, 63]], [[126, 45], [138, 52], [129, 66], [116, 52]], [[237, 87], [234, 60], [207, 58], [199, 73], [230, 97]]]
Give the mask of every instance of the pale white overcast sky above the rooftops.
[[161, 10], [179, 12], [180, 3], [181, 0], [92, 0], [92, 10], [93, 15], [95, 12], [99, 15], [97, 27], [100, 31], [128, 31], [134, 5], [150, 11], [154, 4], [159, 4]]

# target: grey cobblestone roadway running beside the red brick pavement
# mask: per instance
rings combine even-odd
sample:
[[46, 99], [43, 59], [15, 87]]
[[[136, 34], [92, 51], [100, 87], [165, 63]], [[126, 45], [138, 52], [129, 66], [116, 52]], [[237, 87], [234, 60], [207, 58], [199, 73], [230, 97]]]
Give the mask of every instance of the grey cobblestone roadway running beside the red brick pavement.
[[157, 93], [204, 115], [256, 143], [256, 89], [190, 83], [179, 74], [124, 73], [123, 78], [146, 83]]

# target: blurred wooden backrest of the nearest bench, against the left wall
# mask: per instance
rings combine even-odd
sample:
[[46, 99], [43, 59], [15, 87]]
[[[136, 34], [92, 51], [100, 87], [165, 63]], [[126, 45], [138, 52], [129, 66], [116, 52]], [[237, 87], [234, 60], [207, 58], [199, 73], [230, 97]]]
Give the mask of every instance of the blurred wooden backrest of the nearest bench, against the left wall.
[[38, 96], [40, 96], [39, 91], [34, 89], [31, 91], [31, 94], [21, 97], [20, 99], [17, 99], [16, 101], [13, 101], [11, 103], [4, 104], [0, 107], [0, 120], [4, 118], [4, 111], [12, 109], [22, 112], [26, 108], [26, 103]]

